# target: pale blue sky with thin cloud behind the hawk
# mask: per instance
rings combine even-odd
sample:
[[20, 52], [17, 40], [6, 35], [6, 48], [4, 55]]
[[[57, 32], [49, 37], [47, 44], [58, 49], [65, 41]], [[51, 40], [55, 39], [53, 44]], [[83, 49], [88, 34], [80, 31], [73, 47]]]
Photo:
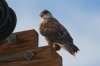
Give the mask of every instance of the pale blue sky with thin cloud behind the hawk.
[[[63, 24], [80, 48], [76, 57], [61, 50], [63, 66], [100, 66], [100, 0], [6, 0], [17, 15], [14, 32], [36, 29], [40, 11], [48, 9]], [[39, 35], [40, 46], [47, 45]]]

